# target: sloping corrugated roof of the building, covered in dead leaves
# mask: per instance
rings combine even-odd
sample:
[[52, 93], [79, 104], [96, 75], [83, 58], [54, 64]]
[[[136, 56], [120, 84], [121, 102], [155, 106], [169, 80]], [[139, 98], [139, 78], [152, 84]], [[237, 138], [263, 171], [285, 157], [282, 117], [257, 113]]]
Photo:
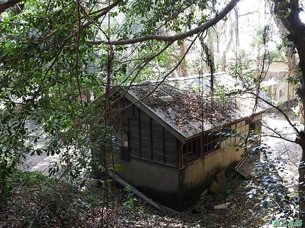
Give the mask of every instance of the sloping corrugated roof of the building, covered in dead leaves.
[[[239, 89], [228, 73], [214, 76], [219, 86], [232, 91]], [[185, 142], [203, 131], [220, 128], [253, 113], [255, 99], [249, 94], [211, 97], [209, 77], [205, 74], [172, 78], [162, 84], [161, 81], [143, 82], [130, 87], [125, 97]], [[159, 86], [155, 90], [156, 85]], [[255, 113], [268, 108], [269, 105], [258, 102]]]

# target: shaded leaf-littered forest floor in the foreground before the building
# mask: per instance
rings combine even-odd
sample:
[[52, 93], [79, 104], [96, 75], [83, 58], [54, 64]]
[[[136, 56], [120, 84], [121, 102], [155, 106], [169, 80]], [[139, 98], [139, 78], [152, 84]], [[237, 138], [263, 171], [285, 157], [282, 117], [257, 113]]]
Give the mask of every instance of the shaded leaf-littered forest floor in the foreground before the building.
[[[13, 192], [0, 206], [0, 227], [259, 227], [264, 223], [255, 200], [245, 196], [250, 186], [242, 179], [227, 180], [208, 198], [202, 212], [180, 215], [156, 211], [128, 189], [115, 192], [87, 184], [81, 190], [56, 182], [41, 172], [17, 172]], [[105, 198], [104, 198], [105, 197]], [[106, 199], [106, 200], [105, 200]], [[115, 199], [115, 200], [113, 200]], [[226, 210], [214, 205], [231, 202]]]

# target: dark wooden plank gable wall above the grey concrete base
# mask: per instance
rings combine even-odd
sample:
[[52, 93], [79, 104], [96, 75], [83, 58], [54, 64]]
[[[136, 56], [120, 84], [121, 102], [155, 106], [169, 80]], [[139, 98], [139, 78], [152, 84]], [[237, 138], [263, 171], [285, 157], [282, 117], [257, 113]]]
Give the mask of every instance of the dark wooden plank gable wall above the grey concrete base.
[[[125, 100], [124, 106], [131, 102]], [[121, 112], [122, 130], [129, 130], [130, 155], [177, 167], [176, 138], [135, 105]]]

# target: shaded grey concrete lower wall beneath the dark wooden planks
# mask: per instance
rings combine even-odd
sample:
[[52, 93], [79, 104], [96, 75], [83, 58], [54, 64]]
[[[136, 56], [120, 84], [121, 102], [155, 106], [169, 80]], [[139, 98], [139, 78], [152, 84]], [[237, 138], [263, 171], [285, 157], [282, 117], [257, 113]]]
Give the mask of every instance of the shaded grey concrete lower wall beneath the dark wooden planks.
[[178, 169], [137, 158], [129, 162], [117, 159], [123, 166], [117, 174], [157, 202], [179, 210]]

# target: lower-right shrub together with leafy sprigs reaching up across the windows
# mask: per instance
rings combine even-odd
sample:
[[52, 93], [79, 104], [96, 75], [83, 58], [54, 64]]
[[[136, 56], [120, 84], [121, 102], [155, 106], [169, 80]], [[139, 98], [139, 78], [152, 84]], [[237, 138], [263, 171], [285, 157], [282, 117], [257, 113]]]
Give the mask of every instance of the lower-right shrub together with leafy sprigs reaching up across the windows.
[[[248, 186], [251, 188], [246, 193], [250, 199], [254, 199], [258, 207], [256, 213], [270, 213], [269, 223], [275, 219], [296, 219], [299, 216], [298, 202], [299, 197], [295, 194], [294, 186], [297, 181], [284, 178], [285, 164], [281, 162], [281, 158], [270, 159], [271, 150], [267, 145], [258, 145], [260, 141], [258, 132], [245, 132], [237, 134], [235, 131], [223, 131], [218, 134], [222, 135], [222, 140], [230, 137], [238, 137], [245, 142], [237, 145], [236, 150], [244, 149], [245, 156], [250, 161], [255, 162], [256, 169], [254, 178], [249, 181]], [[257, 159], [260, 155], [260, 159]]]

